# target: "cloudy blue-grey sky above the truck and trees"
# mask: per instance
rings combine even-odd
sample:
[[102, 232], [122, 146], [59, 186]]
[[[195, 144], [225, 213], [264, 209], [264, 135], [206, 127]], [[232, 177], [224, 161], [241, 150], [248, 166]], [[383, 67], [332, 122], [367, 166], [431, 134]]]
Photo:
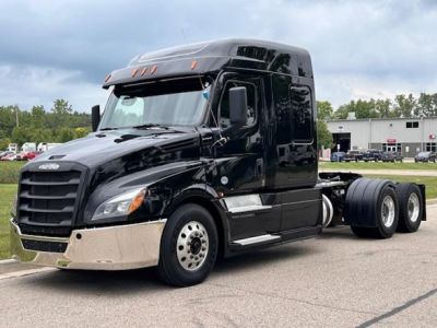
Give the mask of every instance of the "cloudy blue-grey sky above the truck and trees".
[[0, 106], [104, 106], [138, 54], [227, 37], [309, 50], [316, 97], [437, 92], [437, 1], [0, 0]]

